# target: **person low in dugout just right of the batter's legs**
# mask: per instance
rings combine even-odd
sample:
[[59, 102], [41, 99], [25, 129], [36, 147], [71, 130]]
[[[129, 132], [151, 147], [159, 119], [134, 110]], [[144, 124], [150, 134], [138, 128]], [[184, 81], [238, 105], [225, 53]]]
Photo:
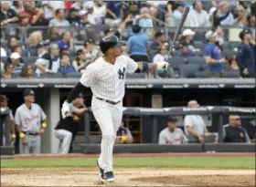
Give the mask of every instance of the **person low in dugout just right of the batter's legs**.
[[120, 128], [116, 132], [115, 143], [133, 143], [133, 135], [131, 133], [131, 130], [129, 130], [129, 128], [124, 127], [123, 121]]

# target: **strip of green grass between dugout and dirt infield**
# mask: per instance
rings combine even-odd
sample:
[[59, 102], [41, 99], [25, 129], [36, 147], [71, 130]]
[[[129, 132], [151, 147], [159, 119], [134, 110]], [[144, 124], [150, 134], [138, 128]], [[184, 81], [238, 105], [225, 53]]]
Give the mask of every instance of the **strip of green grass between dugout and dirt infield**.
[[[20, 159], [2, 160], [1, 168], [36, 167], [96, 167], [96, 159]], [[169, 157], [169, 158], [116, 158], [114, 167], [170, 167], [255, 169], [253, 157]]]

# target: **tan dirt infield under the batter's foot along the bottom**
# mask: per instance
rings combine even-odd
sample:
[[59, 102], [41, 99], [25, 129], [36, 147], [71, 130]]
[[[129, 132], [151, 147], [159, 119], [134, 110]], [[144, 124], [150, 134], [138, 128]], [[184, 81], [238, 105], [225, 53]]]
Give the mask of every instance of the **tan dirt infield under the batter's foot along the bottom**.
[[255, 186], [253, 170], [118, 168], [102, 185], [97, 168], [2, 169], [1, 186]]

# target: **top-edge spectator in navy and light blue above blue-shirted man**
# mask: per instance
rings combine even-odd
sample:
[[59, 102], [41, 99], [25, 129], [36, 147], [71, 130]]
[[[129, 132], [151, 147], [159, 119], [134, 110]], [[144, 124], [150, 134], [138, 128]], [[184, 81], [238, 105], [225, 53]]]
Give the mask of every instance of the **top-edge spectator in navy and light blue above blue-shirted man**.
[[219, 2], [218, 8], [213, 12], [213, 26], [232, 26], [234, 23], [234, 16], [230, 12], [230, 5], [228, 1]]

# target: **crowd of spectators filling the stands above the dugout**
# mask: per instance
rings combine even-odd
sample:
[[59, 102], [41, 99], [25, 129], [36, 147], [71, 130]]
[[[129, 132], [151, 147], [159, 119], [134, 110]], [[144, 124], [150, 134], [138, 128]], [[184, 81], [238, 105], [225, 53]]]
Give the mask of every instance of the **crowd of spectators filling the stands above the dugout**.
[[[186, 66], [168, 58], [165, 28], [177, 26], [186, 5], [188, 28], [171, 56], [197, 70], [181, 74]], [[168, 61], [161, 78], [253, 77], [255, 15], [253, 1], [1, 1], [1, 77], [79, 77], [101, 55], [97, 42], [112, 34], [127, 41], [124, 52], [135, 61]], [[27, 28], [25, 37], [16, 26]], [[231, 26], [240, 28], [233, 43], [225, 34]]]

